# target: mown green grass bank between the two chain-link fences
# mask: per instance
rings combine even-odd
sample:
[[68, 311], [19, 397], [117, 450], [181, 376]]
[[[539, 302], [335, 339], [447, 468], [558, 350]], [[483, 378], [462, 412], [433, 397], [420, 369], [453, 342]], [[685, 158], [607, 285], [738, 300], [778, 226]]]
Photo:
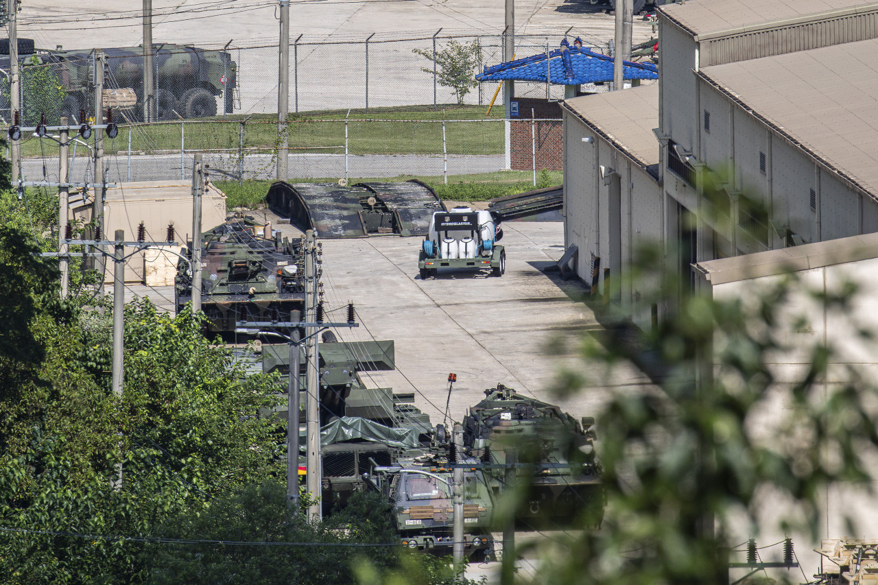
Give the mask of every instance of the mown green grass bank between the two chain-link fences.
[[[443, 108], [444, 107], [444, 112]], [[406, 106], [351, 110], [349, 119], [385, 119], [385, 122], [348, 123], [348, 148], [352, 155], [414, 154], [435, 155], [443, 152], [442, 124], [428, 120], [502, 119], [502, 108], [494, 108], [486, 116], [484, 105], [446, 105], [433, 110], [431, 106]], [[347, 110], [301, 112], [290, 116], [290, 148], [297, 152], [344, 152], [344, 119]], [[180, 150], [181, 126], [185, 148], [191, 150], [226, 150], [237, 156], [241, 145], [241, 116], [199, 121], [163, 122], [148, 126], [131, 126], [133, 152]], [[342, 121], [320, 121], [342, 120]], [[415, 120], [414, 122], [396, 120]], [[119, 126], [115, 140], [104, 140], [104, 153], [115, 155], [128, 149], [129, 126]], [[445, 125], [445, 147], [451, 155], [496, 155], [503, 152], [503, 125], [497, 121], [485, 124]], [[72, 148], [72, 146], [71, 146]], [[269, 152], [277, 148], [277, 117], [259, 114], [249, 117], [245, 125], [244, 148]], [[80, 145], [79, 150], [83, 150]], [[253, 152], [249, 150], [248, 152]], [[56, 157], [58, 147], [53, 141], [35, 138], [22, 144], [22, 155]]]

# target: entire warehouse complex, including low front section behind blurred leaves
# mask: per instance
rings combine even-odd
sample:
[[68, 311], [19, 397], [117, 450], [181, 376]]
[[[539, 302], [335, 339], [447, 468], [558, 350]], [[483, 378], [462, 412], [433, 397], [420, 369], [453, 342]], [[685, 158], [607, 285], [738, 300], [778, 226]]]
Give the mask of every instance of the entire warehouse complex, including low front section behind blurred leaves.
[[[850, 314], [819, 311], [806, 293], [786, 300], [786, 314], [807, 314], [811, 329], [792, 317], [778, 324], [793, 349], [774, 356], [774, 385], [795, 379], [795, 348], [819, 336], [839, 346], [827, 386], [849, 365], [878, 371], [878, 352], [835, 318], [878, 328], [878, 3], [668, 4], [659, 59], [658, 87], [563, 105], [565, 245], [578, 249], [579, 277], [644, 329], [673, 307], [643, 307], [651, 283], [621, 278], [640, 243], [664, 251], [676, 282], [715, 298], [752, 300], [790, 270], [824, 292], [853, 280], [865, 293]], [[759, 416], [777, 423], [786, 408], [768, 403]], [[863, 488], [827, 490], [822, 538], [876, 538], [878, 502]], [[771, 495], [762, 504], [766, 520], [791, 510]], [[840, 518], [853, 510], [848, 534]], [[730, 527], [742, 540], [749, 530]], [[820, 543], [790, 536], [812, 571]]]

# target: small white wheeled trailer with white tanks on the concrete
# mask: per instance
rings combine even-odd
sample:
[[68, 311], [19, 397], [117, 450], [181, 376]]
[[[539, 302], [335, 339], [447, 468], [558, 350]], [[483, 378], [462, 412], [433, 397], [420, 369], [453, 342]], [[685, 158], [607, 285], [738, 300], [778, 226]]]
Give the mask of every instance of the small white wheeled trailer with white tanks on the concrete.
[[435, 277], [439, 268], [506, 271], [506, 250], [496, 245], [503, 237], [496, 213], [457, 206], [433, 213], [418, 258], [421, 280]]

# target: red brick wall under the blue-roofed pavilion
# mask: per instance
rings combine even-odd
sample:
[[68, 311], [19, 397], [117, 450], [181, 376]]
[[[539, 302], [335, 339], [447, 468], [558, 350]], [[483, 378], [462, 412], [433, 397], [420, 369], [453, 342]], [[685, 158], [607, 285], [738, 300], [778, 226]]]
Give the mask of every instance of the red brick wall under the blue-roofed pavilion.
[[[558, 102], [530, 97], [515, 97], [513, 101], [518, 102], [519, 117], [510, 123], [512, 168], [531, 170], [535, 155], [536, 170], [563, 170], [561, 106]], [[533, 123], [530, 121], [531, 112], [537, 119]], [[531, 139], [531, 126], [534, 140]]]

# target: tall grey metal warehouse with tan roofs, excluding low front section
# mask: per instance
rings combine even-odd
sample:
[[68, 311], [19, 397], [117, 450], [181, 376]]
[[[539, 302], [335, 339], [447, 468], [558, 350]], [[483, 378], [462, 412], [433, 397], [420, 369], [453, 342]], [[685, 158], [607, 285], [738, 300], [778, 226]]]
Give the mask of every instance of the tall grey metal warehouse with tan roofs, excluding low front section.
[[608, 283], [638, 241], [694, 283], [697, 262], [878, 231], [878, 3], [850, 4], [663, 6], [658, 89], [565, 101], [580, 278], [633, 313]]

